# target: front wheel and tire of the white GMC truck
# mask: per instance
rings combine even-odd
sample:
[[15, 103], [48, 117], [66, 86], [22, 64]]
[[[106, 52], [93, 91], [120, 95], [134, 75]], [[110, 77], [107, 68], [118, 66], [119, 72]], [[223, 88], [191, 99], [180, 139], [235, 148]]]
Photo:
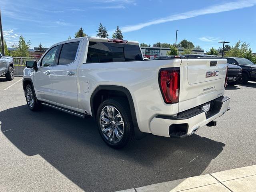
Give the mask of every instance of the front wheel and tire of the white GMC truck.
[[33, 87], [28, 84], [25, 89], [25, 97], [28, 108], [32, 111], [38, 111], [42, 108], [42, 104], [37, 100]]

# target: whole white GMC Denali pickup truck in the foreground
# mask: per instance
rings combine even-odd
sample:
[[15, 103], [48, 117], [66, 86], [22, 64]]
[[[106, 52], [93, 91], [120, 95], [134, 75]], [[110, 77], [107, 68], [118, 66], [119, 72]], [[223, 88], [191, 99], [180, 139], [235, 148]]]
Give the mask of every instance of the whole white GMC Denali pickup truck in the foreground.
[[138, 42], [83, 37], [54, 44], [26, 62], [23, 89], [30, 110], [42, 105], [92, 116], [100, 136], [122, 148], [144, 133], [183, 138], [229, 110], [227, 60], [144, 61]]

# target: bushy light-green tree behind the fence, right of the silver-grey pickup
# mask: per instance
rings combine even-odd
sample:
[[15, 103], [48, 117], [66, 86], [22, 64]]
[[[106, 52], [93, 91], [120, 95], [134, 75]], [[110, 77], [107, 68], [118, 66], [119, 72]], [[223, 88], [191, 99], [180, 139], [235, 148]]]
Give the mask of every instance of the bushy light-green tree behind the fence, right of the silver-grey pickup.
[[31, 42], [24, 39], [23, 36], [20, 36], [18, 45], [14, 44], [12, 45], [12, 48], [15, 48], [14, 51], [12, 51], [12, 56], [14, 57], [29, 57], [29, 49], [30, 49]]

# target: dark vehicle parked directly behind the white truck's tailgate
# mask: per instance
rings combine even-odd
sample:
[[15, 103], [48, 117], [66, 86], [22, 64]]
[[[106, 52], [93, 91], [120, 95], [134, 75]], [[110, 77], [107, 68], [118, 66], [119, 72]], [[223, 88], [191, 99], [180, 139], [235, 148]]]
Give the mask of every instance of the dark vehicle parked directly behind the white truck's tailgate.
[[[214, 58], [222, 58], [217, 55], [205, 55], [205, 54], [191, 54], [191, 55], [182, 55], [186, 58], [209, 58], [209, 57], [214, 57]], [[238, 84], [238, 80], [240, 76], [242, 75], [242, 68], [240, 68], [237, 65], [233, 64], [227, 64], [228, 65], [228, 80], [227, 84], [228, 85], [236, 85]]]

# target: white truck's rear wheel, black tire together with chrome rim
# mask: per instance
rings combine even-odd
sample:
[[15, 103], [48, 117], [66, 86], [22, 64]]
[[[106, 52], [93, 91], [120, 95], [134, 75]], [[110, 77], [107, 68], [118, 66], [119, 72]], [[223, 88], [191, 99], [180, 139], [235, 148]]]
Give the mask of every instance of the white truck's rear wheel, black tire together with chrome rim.
[[96, 120], [100, 136], [108, 146], [120, 149], [134, 139], [132, 116], [124, 99], [103, 101], [98, 108]]

